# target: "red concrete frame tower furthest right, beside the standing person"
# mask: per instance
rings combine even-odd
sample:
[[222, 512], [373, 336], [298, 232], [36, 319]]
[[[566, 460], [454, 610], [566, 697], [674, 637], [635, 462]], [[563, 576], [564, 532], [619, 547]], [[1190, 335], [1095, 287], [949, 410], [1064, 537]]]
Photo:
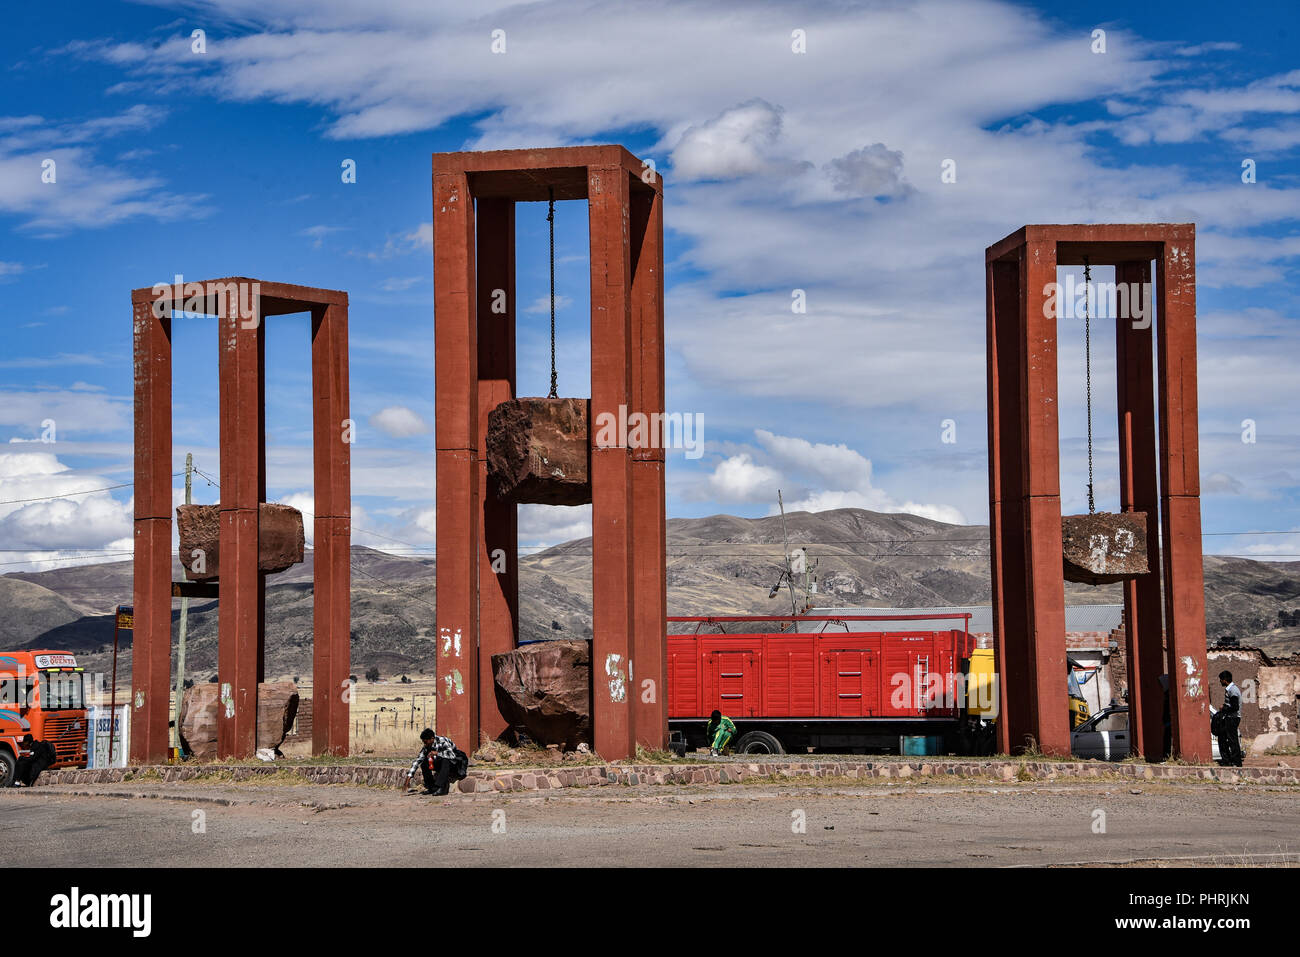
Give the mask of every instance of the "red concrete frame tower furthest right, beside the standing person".
[[1160, 676], [1169, 675], [1173, 757], [1206, 761], [1192, 224], [1024, 226], [987, 250], [998, 750], [1023, 749], [1032, 739], [1044, 753], [1070, 753], [1053, 304], [1057, 267], [1083, 265], [1084, 257], [1093, 267], [1113, 265], [1117, 285], [1130, 283], [1139, 296], [1149, 294], [1156, 264], [1154, 320], [1149, 300], [1144, 319], [1131, 315], [1136, 309], [1115, 319], [1121, 508], [1147, 512], [1152, 525], [1150, 572], [1124, 581], [1132, 752], [1153, 761], [1164, 755]]

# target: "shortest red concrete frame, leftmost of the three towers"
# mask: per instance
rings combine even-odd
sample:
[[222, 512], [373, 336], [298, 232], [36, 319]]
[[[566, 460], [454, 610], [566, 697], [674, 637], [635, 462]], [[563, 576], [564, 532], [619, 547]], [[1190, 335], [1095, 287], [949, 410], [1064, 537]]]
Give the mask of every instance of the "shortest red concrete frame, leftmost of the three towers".
[[[131, 761], [166, 757], [172, 654], [172, 320], [217, 316], [221, 576], [220, 757], [251, 757], [264, 679], [265, 576], [257, 506], [266, 498], [265, 319], [311, 315], [315, 494], [312, 750], [346, 754], [351, 698], [351, 421], [347, 294], [243, 277], [131, 293], [135, 351], [135, 633]], [[181, 585], [179, 588], [185, 588]]]

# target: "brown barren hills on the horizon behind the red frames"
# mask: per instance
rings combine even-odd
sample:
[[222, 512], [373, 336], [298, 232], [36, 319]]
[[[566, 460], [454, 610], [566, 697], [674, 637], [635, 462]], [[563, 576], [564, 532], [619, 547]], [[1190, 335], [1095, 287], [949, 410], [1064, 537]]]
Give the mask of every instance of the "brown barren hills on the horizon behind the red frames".
[[[915, 515], [858, 508], [793, 512], [792, 546], [816, 562], [818, 605], [910, 607], [991, 599], [988, 529]], [[786, 589], [768, 598], [781, 572], [781, 519], [711, 515], [668, 521], [668, 614], [789, 612]], [[179, 577], [179, 566], [176, 568]], [[1122, 601], [1119, 585], [1066, 585], [1067, 601]], [[802, 596], [801, 596], [802, 598]], [[1205, 558], [1210, 638], [1228, 635], [1274, 655], [1300, 650], [1300, 628], [1280, 627], [1300, 611], [1300, 562]], [[0, 576], [0, 635], [9, 648], [66, 648], [107, 668], [112, 610], [131, 601], [131, 566], [79, 566]], [[434, 563], [370, 549], [352, 551], [352, 662], [385, 676], [434, 667]], [[177, 603], [177, 609], [179, 603]], [[520, 562], [520, 637], [590, 637], [592, 540], [558, 545]], [[1282, 615], [1283, 618], [1279, 618]], [[190, 605], [187, 671], [216, 670], [214, 601]], [[120, 668], [129, 667], [129, 645]], [[312, 553], [268, 579], [268, 675], [307, 675], [312, 666]]]

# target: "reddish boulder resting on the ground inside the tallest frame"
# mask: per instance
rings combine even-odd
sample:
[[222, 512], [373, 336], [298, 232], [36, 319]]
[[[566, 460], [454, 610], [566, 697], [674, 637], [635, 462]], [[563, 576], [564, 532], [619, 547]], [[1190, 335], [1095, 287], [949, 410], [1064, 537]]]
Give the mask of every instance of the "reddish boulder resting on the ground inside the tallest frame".
[[497, 707], [541, 745], [592, 744], [592, 644], [534, 641], [491, 657]]

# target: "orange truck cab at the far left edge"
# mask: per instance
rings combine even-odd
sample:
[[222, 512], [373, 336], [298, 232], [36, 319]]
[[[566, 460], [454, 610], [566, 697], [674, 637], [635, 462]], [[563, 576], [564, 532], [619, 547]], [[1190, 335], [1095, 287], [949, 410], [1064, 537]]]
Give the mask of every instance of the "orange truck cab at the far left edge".
[[52, 768], [86, 767], [83, 679], [68, 651], [0, 651], [0, 787], [13, 784], [29, 733], [55, 746]]

